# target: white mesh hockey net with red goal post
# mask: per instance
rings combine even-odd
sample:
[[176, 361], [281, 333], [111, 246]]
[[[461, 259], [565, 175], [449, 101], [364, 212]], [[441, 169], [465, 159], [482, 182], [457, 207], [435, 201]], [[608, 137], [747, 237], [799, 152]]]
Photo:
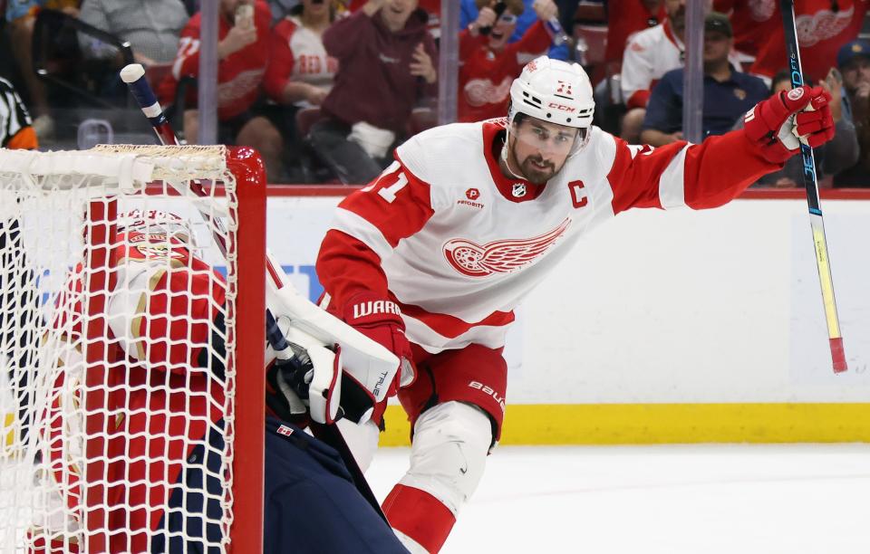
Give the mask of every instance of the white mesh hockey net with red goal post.
[[256, 551], [265, 220], [247, 148], [0, 149], [0, 552]]

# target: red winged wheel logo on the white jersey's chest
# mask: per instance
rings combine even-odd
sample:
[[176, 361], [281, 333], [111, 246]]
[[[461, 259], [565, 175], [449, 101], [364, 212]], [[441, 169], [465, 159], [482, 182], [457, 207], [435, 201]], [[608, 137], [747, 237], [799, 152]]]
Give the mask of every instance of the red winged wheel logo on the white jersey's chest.
[[483, 246], [467, 239], [451, 239], [444, 244], [444, 257], [453, 269], [469, 277], [516, 272], [556, 244], [570, 224], [565, 219], [556, 229], [540, 236], [493, 241]]

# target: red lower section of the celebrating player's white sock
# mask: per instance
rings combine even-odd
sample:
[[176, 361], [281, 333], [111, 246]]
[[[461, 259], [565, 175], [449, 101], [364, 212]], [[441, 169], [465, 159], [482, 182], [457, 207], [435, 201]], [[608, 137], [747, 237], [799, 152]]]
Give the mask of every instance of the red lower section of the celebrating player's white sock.
[[397, 484], [383, 501], [383, 512], [390, 525], [400, 530], [424, 549], [438, 552], [456, 518], [448, 507], [429, 492]]

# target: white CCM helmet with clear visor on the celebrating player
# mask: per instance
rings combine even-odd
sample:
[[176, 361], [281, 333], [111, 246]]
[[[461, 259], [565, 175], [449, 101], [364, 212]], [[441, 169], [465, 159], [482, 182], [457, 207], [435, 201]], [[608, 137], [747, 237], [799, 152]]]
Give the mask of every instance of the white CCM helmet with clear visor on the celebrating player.
[[[524, 129], [516, 133], [515, 141], [560, 157], [574, 156], [589, 142], [594, 110], [592, 84], [582, 67], [546, 56], [528, 62], [510, 86], [507, 138], [501, 151], [502, 158], [507, 162], [511, 132], [519, 129], [526, 117], [550, 124], [537, 126], [546, 127], [547, 132]], [[507, 165], [513, 173], [510, 164]]]

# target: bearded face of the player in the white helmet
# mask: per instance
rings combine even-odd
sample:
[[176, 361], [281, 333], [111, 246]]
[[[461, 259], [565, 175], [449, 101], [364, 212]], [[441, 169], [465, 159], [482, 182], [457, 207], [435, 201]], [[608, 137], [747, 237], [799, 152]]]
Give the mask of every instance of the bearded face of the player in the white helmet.
[[514, 126], [511, 153], [523, 175], [532, 183], [550, 180], [571, 153], [577, 129], [535, 118], [524, 118]]

